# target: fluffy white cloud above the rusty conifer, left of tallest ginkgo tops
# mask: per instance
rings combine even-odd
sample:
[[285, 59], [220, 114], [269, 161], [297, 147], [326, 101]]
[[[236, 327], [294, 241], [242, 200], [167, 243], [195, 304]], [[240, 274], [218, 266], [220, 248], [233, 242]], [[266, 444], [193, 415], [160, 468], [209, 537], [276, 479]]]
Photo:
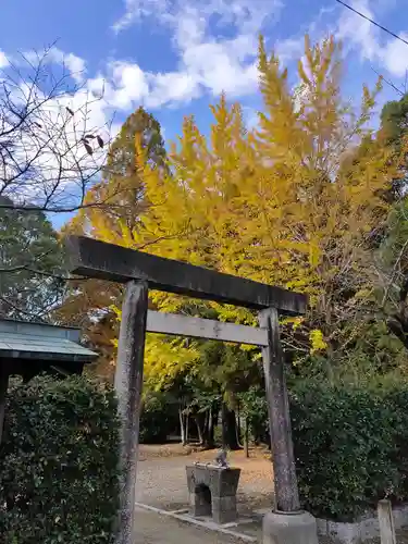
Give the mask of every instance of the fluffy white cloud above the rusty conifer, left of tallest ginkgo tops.
[[[238, 42], [239, 46], [239, 42]], [[90, 79], [88, 89], [102, 94], [113, 108], [128, 111], [139, 104], [160, 108], [188, 102], [209, 92], [222, 91], [236, 97], [257, 87], [258, 70], [254, 58], [243, 62], [234, 40], [191, 42], [181, 51], [178, 70], [168, 73], [143, 72], [138, 64], [116, 61], [108, 65], [107, 75]]]

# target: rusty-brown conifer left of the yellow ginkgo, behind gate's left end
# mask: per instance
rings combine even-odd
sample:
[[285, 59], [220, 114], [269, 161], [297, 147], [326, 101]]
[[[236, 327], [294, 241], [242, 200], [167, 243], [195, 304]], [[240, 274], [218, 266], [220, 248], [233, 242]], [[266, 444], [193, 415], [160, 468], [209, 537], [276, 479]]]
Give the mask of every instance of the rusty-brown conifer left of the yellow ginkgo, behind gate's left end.
[[[140, 227], [140, 213], [149, 202], [145, 199], [144, 182], [137, 165], [135, 140], [144, 149], [150, 168], [166, 170], [166, 154], [160, 123], [143, 108], [132, 113], [112, 143], [100, 183], [86, 195], [86, 203], [107, 201], [109, 206], [85, 207], [64, 227], [66, 234], [84, 234], [114, 243], [118, 233], [134, 239]], [[70, 283], [70, 292], [57, 312], [65, 324], [82, 326], [86, 339], [100, 351], [92, 364], [96, 372], [112, 381], [114, 372], [113, 339], [119, 323], [112, 306], [121, 307], [123, 287], [100, 280], [78, 280]]]

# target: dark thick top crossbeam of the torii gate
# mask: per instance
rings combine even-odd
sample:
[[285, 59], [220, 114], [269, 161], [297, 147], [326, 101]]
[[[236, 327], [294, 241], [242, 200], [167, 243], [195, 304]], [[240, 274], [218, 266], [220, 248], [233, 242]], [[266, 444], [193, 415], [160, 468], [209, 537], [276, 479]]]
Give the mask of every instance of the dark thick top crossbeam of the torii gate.
[[127, 283], [146, 281], [149, 288], [177, 293], [255, 310], [276, 308], [280, 313], [300, 316], [307, 297], [186, 262], [165, 259], [85, 236], [69, 236], [72, 272], [101, 280]]

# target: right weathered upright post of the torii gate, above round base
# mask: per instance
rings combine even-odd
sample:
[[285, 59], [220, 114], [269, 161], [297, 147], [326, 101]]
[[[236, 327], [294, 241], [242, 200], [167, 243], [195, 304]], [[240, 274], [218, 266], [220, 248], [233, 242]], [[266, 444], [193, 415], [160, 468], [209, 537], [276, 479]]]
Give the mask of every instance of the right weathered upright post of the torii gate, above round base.
[[267, 329], [269, 341], [268, 347], [262, 348], [262, 359], [271, 434], [275, 508], [279, 511], [293, 512], [298, 511], [300, 505], [276, 308], [260, 311], [259, 323]]

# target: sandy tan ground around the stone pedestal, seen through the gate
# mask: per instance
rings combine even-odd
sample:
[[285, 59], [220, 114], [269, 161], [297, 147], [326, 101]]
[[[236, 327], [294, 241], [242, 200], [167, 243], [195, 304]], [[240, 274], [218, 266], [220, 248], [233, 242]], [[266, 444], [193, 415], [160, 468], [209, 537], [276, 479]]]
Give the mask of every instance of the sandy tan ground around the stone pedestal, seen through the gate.
[[[178, 444], [163, 446], [141, 445], [137, 467], [137, 496], [140, 504], [163, 510], [178, 510], [188, 506], [186, 465], [212, 461], [217, 450], [200, 452]], [[238, 512], [247, 515], [269, 508], [273, 503], [273, 474], [270, 454], [262, 448], [250, 449], [247, 459], [243, 450], [232, 452], [228, 462], [242, 469], [238, 487]], [[242, 544], [239, 539], [181, 522], [169, 516], [136, 509], [137, 533], [135, 544]], [[258, 536], [261, 528], [239, 526], [234, 531]], [[325, 544], [321, 542], [320, 544]], [[370, 544], [380, 544], [375, 540]], [[397, 544], [408, 544], [408, 530], [397, 532]]]

